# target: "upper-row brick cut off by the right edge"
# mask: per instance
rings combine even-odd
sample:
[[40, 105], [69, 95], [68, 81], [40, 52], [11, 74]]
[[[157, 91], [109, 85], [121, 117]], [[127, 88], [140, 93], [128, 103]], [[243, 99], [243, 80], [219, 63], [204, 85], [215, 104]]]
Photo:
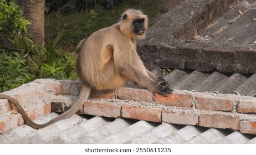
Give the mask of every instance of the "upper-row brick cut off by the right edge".
[[256, 100], [240, 101], [238, 104], [237, 111], [242, 113], [256, 113]]

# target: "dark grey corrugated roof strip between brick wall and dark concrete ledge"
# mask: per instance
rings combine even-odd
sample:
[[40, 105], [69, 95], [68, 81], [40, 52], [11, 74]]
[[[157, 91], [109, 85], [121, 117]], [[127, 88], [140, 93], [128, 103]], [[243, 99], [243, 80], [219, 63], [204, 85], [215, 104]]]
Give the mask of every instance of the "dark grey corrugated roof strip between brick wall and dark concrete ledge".
[[175, 69], [165, 76], [173, 89], [217, 94], [255, 96], [256, 74], [203, 73], [197, 70]]

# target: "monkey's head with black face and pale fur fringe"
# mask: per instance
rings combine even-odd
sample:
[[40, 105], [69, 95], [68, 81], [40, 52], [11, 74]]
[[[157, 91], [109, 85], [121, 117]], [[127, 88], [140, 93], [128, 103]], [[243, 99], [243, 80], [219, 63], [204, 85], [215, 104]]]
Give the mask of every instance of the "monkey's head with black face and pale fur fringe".
[[127, 9], [120, 19], [120, 30], [133, 39], [144, 39], [148, 28], [147, 16], [139, 10]]

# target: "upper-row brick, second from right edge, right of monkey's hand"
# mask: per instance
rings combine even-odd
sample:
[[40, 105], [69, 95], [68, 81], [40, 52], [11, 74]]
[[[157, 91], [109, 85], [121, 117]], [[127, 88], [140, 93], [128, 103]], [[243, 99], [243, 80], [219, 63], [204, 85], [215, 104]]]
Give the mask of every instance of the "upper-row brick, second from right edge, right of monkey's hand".
[[199, 110], [208, 111], [232, 111], [233, 102], [230, 99], [224, 99], [219, 97], [196, 97], [196, 108]]

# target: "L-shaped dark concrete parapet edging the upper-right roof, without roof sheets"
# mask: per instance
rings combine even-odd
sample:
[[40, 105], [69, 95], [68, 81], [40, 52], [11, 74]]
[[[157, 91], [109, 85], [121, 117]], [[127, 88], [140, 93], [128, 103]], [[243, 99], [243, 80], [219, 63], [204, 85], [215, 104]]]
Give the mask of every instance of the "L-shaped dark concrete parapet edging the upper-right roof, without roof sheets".
[[[164, 14], [137, 45], [147, 68], [217, 70], [221, 73], [256, 73], [253, 44], [192, 40], [235, 6], [235, 0], [186, 1]], [[251, 2], [253, 3], [253, 2]], [[239, 4], [237, 4], [239, 5]]]

